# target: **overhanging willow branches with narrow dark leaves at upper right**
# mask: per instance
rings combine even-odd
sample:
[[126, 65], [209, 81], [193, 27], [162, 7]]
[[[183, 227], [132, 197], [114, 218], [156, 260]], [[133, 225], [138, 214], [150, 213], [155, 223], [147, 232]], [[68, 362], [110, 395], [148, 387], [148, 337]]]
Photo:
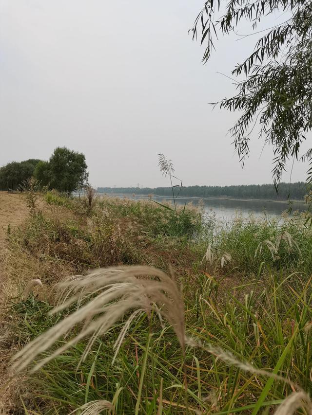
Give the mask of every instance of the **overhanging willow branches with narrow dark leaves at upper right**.
[[[220, 9], [220, 0], [206, 1], [195, 19], [193, 38], [199, 26], [201, 43], [206, 43], [204, 62], [215, 50], [218, 32], [228, 35], [245, 19], [257, 33], [258, 23], [267, 16], [279, 11], [286, 14], [283, 23], [260, 31], [253, 53], [232, 72], [245, 76], [236, 83], [237, 94], [218, 103], [221, 108], [243, 112], [231, 129], [241, 162], [249, 153], [251, 133], [259, 125], [259, 136], [273, 146], [276, 187], [287, 160], [298, 160], [300, 144], [312, 128], [312, 2], [229, 0], [225, 13], [218, 16]], [[310, 162], [307, 180], [312, 181], [312, 148], [301, 160]]]

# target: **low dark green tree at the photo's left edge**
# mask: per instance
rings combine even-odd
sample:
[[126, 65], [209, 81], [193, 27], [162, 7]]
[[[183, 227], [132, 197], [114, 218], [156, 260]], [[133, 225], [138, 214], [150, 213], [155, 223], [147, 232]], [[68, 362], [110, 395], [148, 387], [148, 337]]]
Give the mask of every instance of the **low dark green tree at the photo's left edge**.
[[18, 190], [19, 186], [30, 179], [34, 173], [34, 164], [11, 162], [0, 168], [0, 190]]

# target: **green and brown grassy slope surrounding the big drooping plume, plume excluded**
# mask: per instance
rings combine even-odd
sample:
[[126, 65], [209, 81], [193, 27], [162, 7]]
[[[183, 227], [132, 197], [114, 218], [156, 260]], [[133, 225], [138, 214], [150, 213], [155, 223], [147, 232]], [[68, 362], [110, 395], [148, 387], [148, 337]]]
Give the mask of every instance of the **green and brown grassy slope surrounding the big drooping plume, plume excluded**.
[[213, 218], [203, 225], [193, 209], [177, 218], [151, 202], [101, 199], [89, 209], [84, 200], [53, 194], [46, 200], [51, 209], [30, 217], [9, 241], [7, 275], [20, 287], [40, 277], [45, 287], [39, 297], [13, 300], [11, 346], [64, 317], [46, 315], [55, 302], [54, 294], [46, 295], [62, 277], [137, 263], [173, 269], [183, 287], [186, 334], [197, 346], [187, 348], [183, 366], [172, 327], [142, 313], [113, 365], [122, 322], [97, 338], [78, 369], [86, 341], [30, 377], [34, 393], [22, 393], [29, 413], [67, 414], [108, 399], [117, 414], [132, 414], [136, 406], [142, 414], [247, 414], [270, 410], [292, 392], [284, 381], [241, 370], [237, 361], [275, 370], [311, 392], [309, 223], [298, 218], [280, 227], [250, 219], [220, 230]]

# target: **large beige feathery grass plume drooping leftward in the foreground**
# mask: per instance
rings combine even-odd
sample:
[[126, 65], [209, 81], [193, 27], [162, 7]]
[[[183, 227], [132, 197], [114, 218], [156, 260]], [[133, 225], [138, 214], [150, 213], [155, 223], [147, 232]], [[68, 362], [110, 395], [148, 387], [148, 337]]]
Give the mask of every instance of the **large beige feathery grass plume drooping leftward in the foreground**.
[[[48, 350], [62, 336], [68, 335], [81, 322], [85, 324], [78, 334], [68, 339], [47, 358], [40, 360], [31, 371], [35, 372], [79, 340], [91, 337], [81, 358], [83, 360], [97, 336], [104, 335], [133, 309], [141, 308], [149, 314], [154, 304], [160, 306], [161, 315], [173, 326], [184, 353], [184, 304], [175, 280], [164, 272], [146, 266], [111, 267], [95, 270], [84, 277], [71, 277], [60, 286], [63, 289], [62, 303], [50, 314], [55, 314], [77, 301], [78, 307], [13, 357], [12, 366], [15, 371], [25, 369], [40, 353]], [[68, 291], [64, 291], [64, 288], [72, 294], [68, 296]], [[130, 323], [128, 320], [125, 325], [129, 326]], [[121, 331], [116, 347], [120, 346], [124, 335], [125, 331]]]

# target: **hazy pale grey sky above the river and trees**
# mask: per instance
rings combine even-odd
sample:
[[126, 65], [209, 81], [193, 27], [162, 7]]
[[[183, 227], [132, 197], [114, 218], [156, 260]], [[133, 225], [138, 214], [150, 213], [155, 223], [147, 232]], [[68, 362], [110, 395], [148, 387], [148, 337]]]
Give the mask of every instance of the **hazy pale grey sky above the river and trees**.
[[[230, 75], [256, 36], [221, 38], [203, 65], [188, 35], [203, 2], [0, 0], [0, 165], [65, 145], [94, 186], [167, 184], [158, 153], [185, 185], [272, 182], [270, 147], [259, 158], [254, 140], [242, 169], [227, 134], [238, 114], [208, 105], [234, 93], [216, 72]], [[295, 164], [292, 181], [305, 172]]]

